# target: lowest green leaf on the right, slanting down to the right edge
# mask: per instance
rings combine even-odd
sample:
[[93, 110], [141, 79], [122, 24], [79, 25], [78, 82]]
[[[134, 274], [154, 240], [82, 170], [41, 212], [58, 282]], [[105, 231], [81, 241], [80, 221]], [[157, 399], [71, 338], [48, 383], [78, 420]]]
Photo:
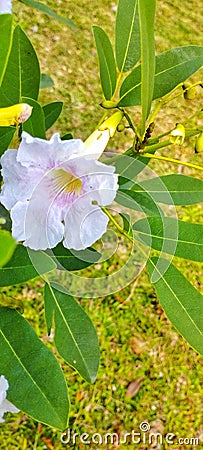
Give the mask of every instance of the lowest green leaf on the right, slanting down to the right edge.
[[203, 355], [203, 296], [172, 264], [162, 275], [157, 260], [152, 258], [147, 266], [150, 275], [157, 272], [154, 287], [161, 306], [176, 330]]

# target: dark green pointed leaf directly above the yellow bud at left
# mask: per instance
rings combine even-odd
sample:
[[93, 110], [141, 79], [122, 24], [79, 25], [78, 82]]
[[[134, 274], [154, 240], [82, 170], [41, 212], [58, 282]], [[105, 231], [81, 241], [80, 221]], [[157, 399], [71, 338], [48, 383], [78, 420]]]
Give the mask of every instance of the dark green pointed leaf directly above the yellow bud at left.
[[22, 97], [36, 99], [39, 92], [40, 70], [35, 50], [18, 25], [0, 86], [0, 107], [20, 103]]

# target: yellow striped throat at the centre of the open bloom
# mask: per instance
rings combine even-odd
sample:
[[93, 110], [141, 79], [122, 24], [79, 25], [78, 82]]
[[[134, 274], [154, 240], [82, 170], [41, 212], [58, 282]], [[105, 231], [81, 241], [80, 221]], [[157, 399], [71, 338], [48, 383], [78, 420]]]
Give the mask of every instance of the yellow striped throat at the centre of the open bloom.
[[82, 181], [66, 170], [56, 169], [54, 170], [54, 189], [58, 193], [79, 195], [82, 190]]

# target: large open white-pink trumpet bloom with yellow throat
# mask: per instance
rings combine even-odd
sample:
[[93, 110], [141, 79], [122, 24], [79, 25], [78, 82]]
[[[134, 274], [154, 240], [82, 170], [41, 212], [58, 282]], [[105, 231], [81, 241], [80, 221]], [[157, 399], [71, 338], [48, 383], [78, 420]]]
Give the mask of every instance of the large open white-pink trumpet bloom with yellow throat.
[[85, 249], [106, 231], [118, 189], [114, 168], [97, 161], [106, 145], [103, 133], [90, 149], [80, 139], [49, 141], [23, 132], [18, 150], [1, 158], [4, 185], [0, 202], [11, 210], [12, 234], [33, 250]]

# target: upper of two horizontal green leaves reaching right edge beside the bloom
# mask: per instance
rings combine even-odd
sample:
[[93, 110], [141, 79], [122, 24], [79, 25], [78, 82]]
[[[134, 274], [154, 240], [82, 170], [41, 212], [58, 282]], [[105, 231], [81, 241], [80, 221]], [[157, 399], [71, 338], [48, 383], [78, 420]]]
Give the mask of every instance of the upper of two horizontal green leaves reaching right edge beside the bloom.
[[193, 205], [203, 202], [203, 180], [182, 174], [164, 175], [131, 188], [135, 192], [147, 191], [157, 203], [167, 205]]

